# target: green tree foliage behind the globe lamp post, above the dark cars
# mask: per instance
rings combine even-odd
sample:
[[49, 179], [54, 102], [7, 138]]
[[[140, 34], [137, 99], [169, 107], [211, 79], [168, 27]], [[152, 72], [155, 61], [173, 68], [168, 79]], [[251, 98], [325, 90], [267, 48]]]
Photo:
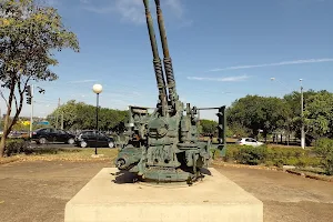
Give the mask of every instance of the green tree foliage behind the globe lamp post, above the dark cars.
[[[63, 114], [63, 128], [65, 130], [95, 129], [94, 105], [71, 100], [60, 108], [57, 108], [50, 115], [48, 115], [48, 120], [52, 125], [57, 125], [57, 115], [59, 121], [61, 114]], [[110, 130], [117, 128], [121, 122], [125, 122], [127, 119], [127, 111], [112, 110], [107, 108], [99, 109], [100, 130]]]

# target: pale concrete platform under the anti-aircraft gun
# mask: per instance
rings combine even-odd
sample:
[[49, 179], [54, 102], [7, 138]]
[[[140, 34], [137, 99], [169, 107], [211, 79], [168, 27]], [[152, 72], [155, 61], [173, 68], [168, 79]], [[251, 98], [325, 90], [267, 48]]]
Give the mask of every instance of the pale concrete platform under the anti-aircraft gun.
[[65, 222], [262, 222], [263, 203], [215, 169], [188, 185], [131, 183], [102, 169], [65, 205]]

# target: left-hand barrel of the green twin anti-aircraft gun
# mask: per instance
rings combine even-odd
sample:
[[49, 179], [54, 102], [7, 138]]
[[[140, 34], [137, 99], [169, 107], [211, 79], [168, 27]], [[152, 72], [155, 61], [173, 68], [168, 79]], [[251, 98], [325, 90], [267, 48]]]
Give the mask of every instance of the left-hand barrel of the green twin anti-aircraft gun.
[[[157, 77], [157, 82], [158, 82], [158, 88], [159, 88], [159, 97], [162, 102], [162, 109], [165, 109], [165, 107], [167, 107], [165, 79], [163, 75], [162, 62], [161, 62], [161, 59], [159, 56], [153, 22], [152, 22], [151, 13], [149, 10], [149, 0], [143, 0], [143, 4], [144, 4], [144, 10], [145, 10], [145, 18], [147, 18], [147, 26], [148, 26], [148, 31], [149, 31], [151, 49], [152, 49], [152, 53], [153, 53], [153, 65], [154, 65], [154, 71], [155, 71], [155, 77]], [[165, 110], [162, 112], [165, 114]]]

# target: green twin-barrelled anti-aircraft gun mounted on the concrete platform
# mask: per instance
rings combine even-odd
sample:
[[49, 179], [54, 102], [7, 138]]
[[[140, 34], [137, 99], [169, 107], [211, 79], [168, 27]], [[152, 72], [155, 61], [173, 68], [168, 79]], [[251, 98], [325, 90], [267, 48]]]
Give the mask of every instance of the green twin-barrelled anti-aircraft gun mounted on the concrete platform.
[[153, 113], [148, 108], [129, 107], [127, 144], [115, 159], [119, 170], [137, 173], [142, 180], [158, 182], [192, 182], [208, 168], [210, 143], [199, 141], [198, 109], [185, 105], [176, 93], [172, 60], [160, 0], [155, 0], [163, 67], [159, 57], [149, 0], [143, 0], [147, 26], [153, 54], [153, 67], [159, 89], [159, 102]]

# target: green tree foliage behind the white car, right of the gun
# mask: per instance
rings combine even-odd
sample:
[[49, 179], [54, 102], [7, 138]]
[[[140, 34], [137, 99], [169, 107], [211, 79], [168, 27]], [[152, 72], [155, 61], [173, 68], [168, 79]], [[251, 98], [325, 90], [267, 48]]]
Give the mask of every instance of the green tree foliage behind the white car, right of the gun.
[[228, 125], [240, 137], [256, 137], [261, 129], [264, 137], [283, 131], [300, 138], [303, 123], [307, 145], [320, 137], [333, 138], [333, 93], [309, 90], [303, 92], [303, 98], [302, 118], [300, 92], [292, 92], [282, 99], [246, 95], [228, 108]]

